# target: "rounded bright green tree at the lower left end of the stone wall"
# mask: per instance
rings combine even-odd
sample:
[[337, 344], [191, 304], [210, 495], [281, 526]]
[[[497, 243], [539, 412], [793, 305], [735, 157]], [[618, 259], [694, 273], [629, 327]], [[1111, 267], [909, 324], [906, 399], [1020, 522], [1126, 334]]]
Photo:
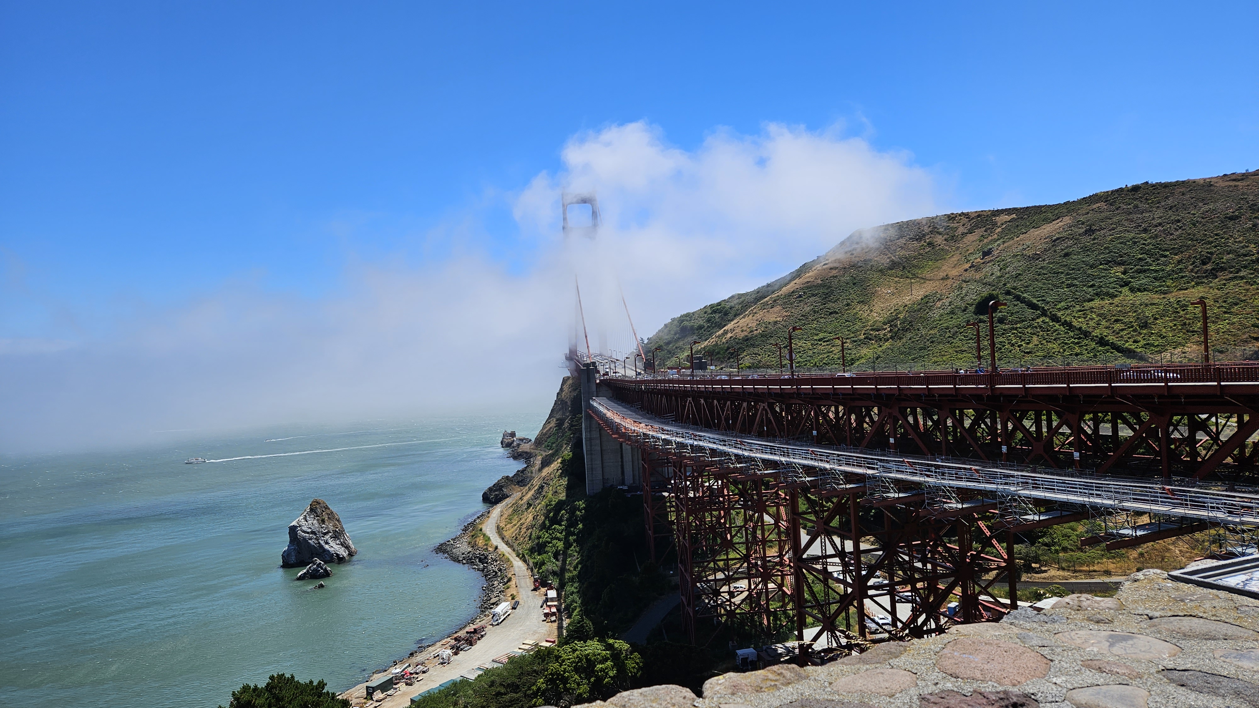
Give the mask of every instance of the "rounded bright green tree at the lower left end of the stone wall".
[[642, 673], [642, 658], [617, 639], [570, 641], [546, 651], [546, 670], [533, 688], [535, 705], [564, 708], [611, 698]]

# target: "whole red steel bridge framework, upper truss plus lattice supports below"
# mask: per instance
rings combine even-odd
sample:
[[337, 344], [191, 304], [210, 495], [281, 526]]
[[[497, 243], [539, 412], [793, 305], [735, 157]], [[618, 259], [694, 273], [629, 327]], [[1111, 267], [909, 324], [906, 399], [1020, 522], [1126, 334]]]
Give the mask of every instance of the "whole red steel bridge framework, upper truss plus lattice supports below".
[[[993, 590], [1017, 596], [1016, 534], [1056, 523], [1100, 519], [1084, 543], [1107, 548], [1210, 519], [1259, 526], [1259, 497], [1166, 485], [1253, 475], [1255, 366], [601, 384], [631, 407], [588, 412], [643, 451], [648, 539], [653, 557], [672, 541], [691, 641], [729, 621], [841, 646], [846, 630], [925, 636], [948, 621], [997, 619], [1010, 601]], [[624, 415], [646, 418], [637, 411], [653, 423]], [[652, 433], [684, 429], [723, 431], [730, 444]], [[807, 455], [755, 451], [745, 444], [755, 438], [878, 451], [878, 464], [811, 465]], [[1095, 469], [1061, 492], [1015, 479], [1064, 468], [1070, 478], [1083, 467]], [[988, 483], [1005, 469], [1010, 479]], [[1121, 472], [1113, 485], [1123, 494], [1102, 498], [1095, 482]], [[1143, 475], [1165, 485], [1137, 488]]]

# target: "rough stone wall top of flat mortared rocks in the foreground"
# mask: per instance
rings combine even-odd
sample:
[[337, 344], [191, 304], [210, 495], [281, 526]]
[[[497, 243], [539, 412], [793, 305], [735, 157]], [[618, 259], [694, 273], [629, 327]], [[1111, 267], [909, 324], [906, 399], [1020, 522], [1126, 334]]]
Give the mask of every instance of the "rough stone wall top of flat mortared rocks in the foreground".
[[614, 708], [1259, 708], [1259, 600], [1142, 571], [1001, 622], [876, 645], [825, 667], [725, 674], [703, 698], [631, 690]]

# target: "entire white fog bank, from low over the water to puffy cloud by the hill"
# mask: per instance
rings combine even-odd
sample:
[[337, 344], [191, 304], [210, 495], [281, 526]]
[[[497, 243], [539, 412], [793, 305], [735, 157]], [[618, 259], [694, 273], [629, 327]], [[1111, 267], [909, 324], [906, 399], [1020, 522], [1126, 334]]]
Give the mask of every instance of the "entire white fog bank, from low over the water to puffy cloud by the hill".
[[[908, 155], [837, 131], [718, 131], [686, 151], [640, 122], [575, 136], [562, 157], [562, 171], [512, 197], [525, 268], [465, 244], [419, 269], [347, 265], [349, 287], [324, 299], [232, 282], [73, 346], [0, 340], [0, 450], [524, 401], [545, 410], [574, 335], [574, 272], [592, 345], [626, 351], [621, 287], [646, 337], [855, 229], [935, 213], [932, 176]], [[598, 192], [596, 240], [564, 241], [564, 189]]]

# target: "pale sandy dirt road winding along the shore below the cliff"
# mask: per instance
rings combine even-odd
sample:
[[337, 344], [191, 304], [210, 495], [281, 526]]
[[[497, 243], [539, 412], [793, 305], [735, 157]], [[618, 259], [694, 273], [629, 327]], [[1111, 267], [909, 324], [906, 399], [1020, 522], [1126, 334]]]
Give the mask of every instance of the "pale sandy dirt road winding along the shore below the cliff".
[[[341, 693], [341, 698], [349, 699], [356, 707], [403, 708], [410, 704], [413, 697], [444, 682], [457, 679], [463, 674], [471, 675], [470, 672], [475, 672], [477, 667], [491, 668], [499, 665], [494, 663], [496, 658], [531, 650], [534, 646], [545, 646], [548, 645], [548, 640], [554, 640], [555, 625], [543, 619], [543, 595], [541, 592], [533, 591], [533, 577], [529, 573], [529, 567], [516, 557], [507, 543], [499, 536], [499, 517], [502, 509], [514, 501], [515, 497], [511, 497], [494, 507], [481, 528], [490, 537], [490, 541], [511, 561], [512, 578], [511, 584], [506, 586], [504, 596], [510, 597], [515, 592], [516, 597], [520, 599], [520, 606], [497, 626], [490, 625], [488, 612], [478, 615], [451, 636], [423, 649], [417, 649], [407, 659], [395, 661], [390, 669], [378, 672], [366, 682]], [[466, 635], [468, 629], [481, 625], [485, 625], [485, 635], [476, 645], [454, 655], [449, 664], [442, 665], [438, 661], [436, 658], [437, 653], [453, 646], [456, 636]], [[366, 685], [381, 677], [389, 675], [392, 670], [402, 669], [403, 667], [419, 667], [421, 670], [427, 667], [428, 673], [421, 674], [419, 680], [413, 685], [405, 685], [399, 677], [395, 679], [395, 694], [387, 695], [381, 702], [369, 700], [365, 693]]]

